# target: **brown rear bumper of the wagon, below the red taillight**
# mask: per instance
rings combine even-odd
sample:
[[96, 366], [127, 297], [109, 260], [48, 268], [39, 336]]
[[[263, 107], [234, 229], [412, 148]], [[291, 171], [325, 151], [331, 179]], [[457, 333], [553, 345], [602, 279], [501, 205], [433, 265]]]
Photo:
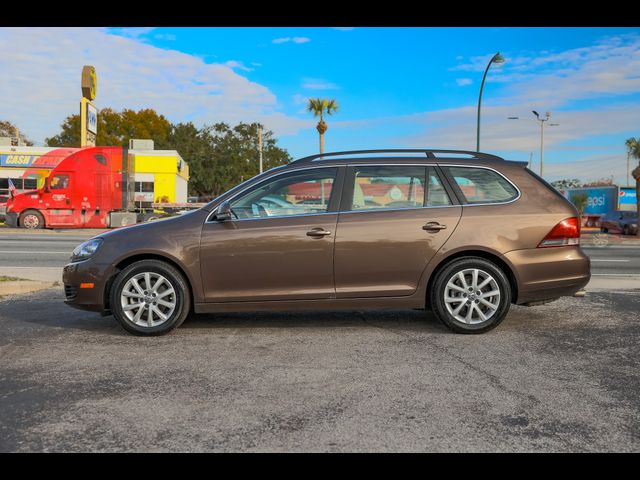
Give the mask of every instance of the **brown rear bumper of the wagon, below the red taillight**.
[[518, 277], [517, 304], [571, 296], [591, 279], [591, 262], [578, 246], [513, 250], [505, 258]]

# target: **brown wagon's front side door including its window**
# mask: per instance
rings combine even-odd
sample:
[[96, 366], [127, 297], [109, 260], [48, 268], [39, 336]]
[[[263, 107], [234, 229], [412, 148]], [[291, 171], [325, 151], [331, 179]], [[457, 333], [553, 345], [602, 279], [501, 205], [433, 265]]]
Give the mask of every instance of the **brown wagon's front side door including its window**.
[[333, 248], [343, 169], [276, 174], [230, 199], [232, 219], [204, 224], [206, 302], [335, 298]]

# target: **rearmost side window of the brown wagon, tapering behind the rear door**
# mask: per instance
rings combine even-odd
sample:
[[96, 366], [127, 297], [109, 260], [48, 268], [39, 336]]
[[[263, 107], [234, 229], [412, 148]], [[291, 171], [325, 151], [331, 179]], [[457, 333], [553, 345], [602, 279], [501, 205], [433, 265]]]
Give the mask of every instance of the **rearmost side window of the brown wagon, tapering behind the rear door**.
[[467, 203], [502, 203], [518, 197], [502, 175], [479, 167], [442, 167], [455, 181]]

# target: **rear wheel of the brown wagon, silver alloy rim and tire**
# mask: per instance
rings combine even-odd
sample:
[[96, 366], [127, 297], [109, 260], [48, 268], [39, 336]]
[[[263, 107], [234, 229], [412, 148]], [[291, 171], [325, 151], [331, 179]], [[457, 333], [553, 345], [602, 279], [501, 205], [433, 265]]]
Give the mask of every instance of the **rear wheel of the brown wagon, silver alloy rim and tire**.
[[502, 269], [479, 257], [452, 261], [440, 270], [430, 292], [435, 316], [458, 333], [495, 328], [511, 306], [511, 286]]

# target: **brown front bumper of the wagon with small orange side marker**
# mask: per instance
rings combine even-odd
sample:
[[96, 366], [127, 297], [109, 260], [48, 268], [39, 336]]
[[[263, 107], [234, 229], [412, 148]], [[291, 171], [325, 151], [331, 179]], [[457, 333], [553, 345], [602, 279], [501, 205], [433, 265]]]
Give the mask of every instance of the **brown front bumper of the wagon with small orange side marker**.
[[[64, 303], [81, 310], [107, 313], [108, 299], [105, 298], [105, 291], [109, 273], [109, 265], [96, 264], [91, 259], [65, 265], [62, 269]], [[82, 284], [91, 283], [92, 288], [81, 288]]]

